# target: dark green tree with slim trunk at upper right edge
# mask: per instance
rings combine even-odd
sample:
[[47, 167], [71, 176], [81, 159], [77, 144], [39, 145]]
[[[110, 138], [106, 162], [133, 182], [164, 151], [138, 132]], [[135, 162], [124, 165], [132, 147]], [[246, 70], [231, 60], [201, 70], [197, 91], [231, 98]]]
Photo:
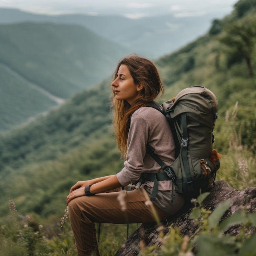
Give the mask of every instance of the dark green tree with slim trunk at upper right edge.
[[245, 59], [249, 76], [253, 77], [252, 53], [256, 43], [256, 15], [247, 15], [224, 27], [218, 40], [227, 46], [227, 52], [233, 59]]

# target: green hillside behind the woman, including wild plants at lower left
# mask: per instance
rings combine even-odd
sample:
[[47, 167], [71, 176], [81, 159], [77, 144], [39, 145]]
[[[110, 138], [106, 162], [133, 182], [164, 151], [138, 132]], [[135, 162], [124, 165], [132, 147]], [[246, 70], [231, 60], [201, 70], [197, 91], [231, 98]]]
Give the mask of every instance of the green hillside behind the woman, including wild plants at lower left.
[[[159, 103], [193, 85], [216, 94], [213, 146], [222, 154], [216, 179], [238, 190], [256, 186], [255, 24], [256, 1], [239, 0], [228, 16], [212, 21], [207, 34], [155, 60], [166, 87]], [[0, 133], [1, 255], [76, 255], [65, 204], [70, 187], [123, 166], [112, 133], [110, 84], [111, 77], [46, 115]], [[112, 227], [101, 227], [102, 255], [114, 255], [126, 239], [125, 225]], [[250, 239], [245, 231], [234, 242], [236, 251], [223, 255], [255, 255], [239, 253]], [[181, 244], [166, 255], [186, 255]]]

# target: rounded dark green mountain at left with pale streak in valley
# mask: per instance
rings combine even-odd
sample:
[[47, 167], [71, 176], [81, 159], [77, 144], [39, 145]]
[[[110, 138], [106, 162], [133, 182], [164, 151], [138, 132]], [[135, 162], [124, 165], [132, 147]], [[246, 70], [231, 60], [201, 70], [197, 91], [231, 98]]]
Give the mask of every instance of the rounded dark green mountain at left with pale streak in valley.
[[0, 130], [106, 78], [128, 50], [79, 25], [0, 25]]

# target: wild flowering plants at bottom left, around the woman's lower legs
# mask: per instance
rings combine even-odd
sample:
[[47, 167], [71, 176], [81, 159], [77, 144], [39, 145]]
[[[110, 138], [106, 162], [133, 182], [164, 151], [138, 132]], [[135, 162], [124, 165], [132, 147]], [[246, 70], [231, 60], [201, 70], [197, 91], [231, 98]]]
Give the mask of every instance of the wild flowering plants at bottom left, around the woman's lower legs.
[[[68, 210], [60, 220], [22, 216], [9, 200], [9, 214], [0, 222], [1, 256], [76, 256], [75, 242], [68, 221]], [[39, 223], [43, 223], [39, 224]], [[131, 232], [137, 224], [130, 225]], [[101, 255], [112, 256], [126, 240], [126, 225], [102, 224], [99, 242]]]

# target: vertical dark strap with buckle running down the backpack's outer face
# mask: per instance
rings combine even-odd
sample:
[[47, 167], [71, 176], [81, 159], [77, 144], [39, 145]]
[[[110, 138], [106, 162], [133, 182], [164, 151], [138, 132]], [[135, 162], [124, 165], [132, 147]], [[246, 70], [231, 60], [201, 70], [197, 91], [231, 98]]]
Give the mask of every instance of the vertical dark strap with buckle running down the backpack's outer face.
[[187, 127], [186, 113], [181, 114], [181, 122], [182, 122], [182, 133], [183, 133], [182, 142], [181, 142], [181, 153], [182, 153], [182, 161], [183, 161], [184, 169], [186, 173], [186, 176], [184, 177], [184, 181], [188, 186], [188, 191], [193, 192], [194, 188], [191, 180], [191, 174], [189, 170], [189, 161], [187, 157], [187, 153], [188, 153], [187, 147], [188, 147], [189, 136], [188, 136], [188, 131], [186, 129]]

